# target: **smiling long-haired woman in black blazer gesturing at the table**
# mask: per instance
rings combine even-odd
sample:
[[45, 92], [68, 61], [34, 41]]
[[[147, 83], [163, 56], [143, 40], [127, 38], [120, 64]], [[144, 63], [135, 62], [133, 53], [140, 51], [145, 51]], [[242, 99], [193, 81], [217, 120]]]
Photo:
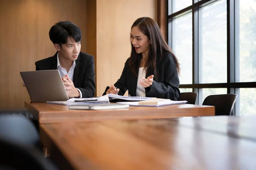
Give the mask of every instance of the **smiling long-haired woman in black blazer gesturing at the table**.
[[131, 96], [177, 100], [179, 71], [177, 58], [157, 23], [142, 17], [131, 26], [131, 57], [125, 62], [120, 79], [104, 94], [124, 95], [128, 90]]

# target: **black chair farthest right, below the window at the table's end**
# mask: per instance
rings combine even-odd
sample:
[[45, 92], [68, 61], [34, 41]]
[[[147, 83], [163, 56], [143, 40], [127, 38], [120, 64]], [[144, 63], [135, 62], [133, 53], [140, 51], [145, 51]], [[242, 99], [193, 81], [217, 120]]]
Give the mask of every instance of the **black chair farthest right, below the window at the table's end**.
[[215, 115], [231, 115], [235, 105], [236, 94], [210, 95], [204, 99], [202, 105], [215, 106]]

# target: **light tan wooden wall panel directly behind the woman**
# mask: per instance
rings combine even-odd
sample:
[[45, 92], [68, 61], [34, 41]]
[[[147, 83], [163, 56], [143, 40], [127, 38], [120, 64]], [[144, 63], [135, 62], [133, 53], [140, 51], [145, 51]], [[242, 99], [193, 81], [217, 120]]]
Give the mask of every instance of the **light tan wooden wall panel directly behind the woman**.
[[131, 25], [139, 17], [157, 20], [157, 0], [97, 0], [97, 96], [117, 81], [130, 56]]

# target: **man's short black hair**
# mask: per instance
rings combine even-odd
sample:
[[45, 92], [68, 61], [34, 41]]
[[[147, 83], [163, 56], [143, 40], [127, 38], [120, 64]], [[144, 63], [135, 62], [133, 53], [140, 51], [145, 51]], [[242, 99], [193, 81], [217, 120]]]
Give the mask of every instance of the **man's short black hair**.
[[53, 44], [67, 43], [67, 38], [72, 37], [76, 42], [80, 42], [82, 39], [81, 30], [76, 24], [70, 21], [60, 21], [55, 23], [49, 31], [49, 37]]

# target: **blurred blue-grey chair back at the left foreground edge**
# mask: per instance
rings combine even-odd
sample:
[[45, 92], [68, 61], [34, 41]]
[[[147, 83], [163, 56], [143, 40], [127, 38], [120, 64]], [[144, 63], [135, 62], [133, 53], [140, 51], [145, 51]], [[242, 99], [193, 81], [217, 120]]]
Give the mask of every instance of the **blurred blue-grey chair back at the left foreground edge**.
[[25, 116], [0, 114], [0, 137], [9, 142], [42, 149], [38, 130]]

